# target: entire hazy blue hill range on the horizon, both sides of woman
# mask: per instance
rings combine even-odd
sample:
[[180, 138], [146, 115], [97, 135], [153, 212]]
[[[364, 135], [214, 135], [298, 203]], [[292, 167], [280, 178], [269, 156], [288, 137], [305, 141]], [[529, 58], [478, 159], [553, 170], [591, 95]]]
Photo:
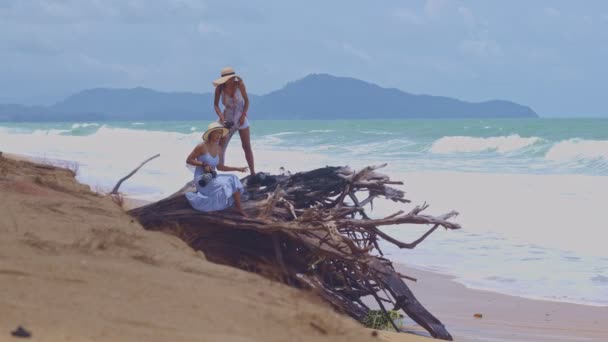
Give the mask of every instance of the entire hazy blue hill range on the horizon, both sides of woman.
[[[269, 94], [249, 95], [257, 119], [535, 118], [510, 101], [479, 103], [413, 95], [361, 80], [313, 74]], [[213, 94], [97, 88], [50, 107], [0, 105], [0, 121], [195, 120], [215, 116]]]

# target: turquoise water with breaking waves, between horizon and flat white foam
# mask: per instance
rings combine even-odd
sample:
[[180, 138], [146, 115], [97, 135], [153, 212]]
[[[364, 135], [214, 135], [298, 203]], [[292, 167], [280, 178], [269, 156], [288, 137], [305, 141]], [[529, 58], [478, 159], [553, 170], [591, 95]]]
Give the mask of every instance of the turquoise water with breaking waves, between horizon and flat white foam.
[[[191, 134], [206, 122], [0, 124], [7, 133], [90, 136], [112, 129]], [[99, 131], [102, 132], [99, 132]], [[608, 175], [607, 119], [260, 121], [258, 144], [408, 161], [408, 169]], [[412, 164], [412, 159], [425, 161]]]

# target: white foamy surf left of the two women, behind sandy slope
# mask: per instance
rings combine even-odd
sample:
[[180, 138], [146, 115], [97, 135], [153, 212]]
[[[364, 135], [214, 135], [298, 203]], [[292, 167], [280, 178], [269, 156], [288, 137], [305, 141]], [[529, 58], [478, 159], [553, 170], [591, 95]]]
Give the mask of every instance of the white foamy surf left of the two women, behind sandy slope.
[[[78, 179], [92, 187], [107, 188], [139, 162], [157, 153], [161, 157], [146, 165], [124, 190], [143, 188], [166, 194], [181, 187], [190, 173], [185, 158], [197, 142], [198, 133], [150, 132], [101, 126], [87, 136], [62, 135], [63, 130], [36, 130], [31, 134], [3, 134], [3, 149], [35, 157], [73, 160], [80, 164]], [[122, 175], [122, 176], [121, 176]]]

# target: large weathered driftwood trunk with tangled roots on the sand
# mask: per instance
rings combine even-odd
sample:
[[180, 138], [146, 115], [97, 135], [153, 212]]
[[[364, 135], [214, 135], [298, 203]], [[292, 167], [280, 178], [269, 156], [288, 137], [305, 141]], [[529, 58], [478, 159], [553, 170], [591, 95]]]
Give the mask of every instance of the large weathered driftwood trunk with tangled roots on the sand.
[[[413, 278], [395, 271], [391, 261], [383, 257], [378, 241], [414, 248], [438, 227], [459, 229], [458, 224], [448, 221], [457, 213], [423, 215], [428, 207], [423, 204], [385, 218], [370, 218], [364, 206], [372, 205], [375, 198], [410, 202], [402, 191], [387, 186], [400, 182], [375, 171], [385, 165], [358, 172], [325, 167], [280, 175], [268, 186], [251, 184], [253, 179], [247, 177], [243, 182], [248, 199], [243, 208], [249, 218], [230, 209], [215, 213], [193, 210], [183, 195], [192, 191], [191, 184], [130, 214], [146, 229], [179, 236], [192, 248], [202, 250], [210, 261], [311, 289], [359, 321], [370, 311], [363, 298], [371, 296], [387, 316], [387, 310], [402, 309], [431, 336], [451, 340], [444, 325], [403, 281]], [[366, 195], [362, 200], [358, 198], [361, 193]], [[412, 243], [398, 241], [379, 228], [403, 224], [431, 228]]]

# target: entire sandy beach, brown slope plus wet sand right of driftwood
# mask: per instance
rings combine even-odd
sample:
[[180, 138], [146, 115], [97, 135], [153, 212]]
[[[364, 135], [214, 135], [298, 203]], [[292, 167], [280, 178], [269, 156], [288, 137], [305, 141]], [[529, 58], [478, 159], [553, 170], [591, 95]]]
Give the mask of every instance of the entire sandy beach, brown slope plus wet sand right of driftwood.
[[[378, 340], [306, 292], [145, 231], [70, 171], [5, 154], [0, 194], [0, 340], [18, 325], [36, 341]], [[398, 267], [418, 278], [408, 285], [456, 341], [608, 340], [607, 307], [476, 291]]]

